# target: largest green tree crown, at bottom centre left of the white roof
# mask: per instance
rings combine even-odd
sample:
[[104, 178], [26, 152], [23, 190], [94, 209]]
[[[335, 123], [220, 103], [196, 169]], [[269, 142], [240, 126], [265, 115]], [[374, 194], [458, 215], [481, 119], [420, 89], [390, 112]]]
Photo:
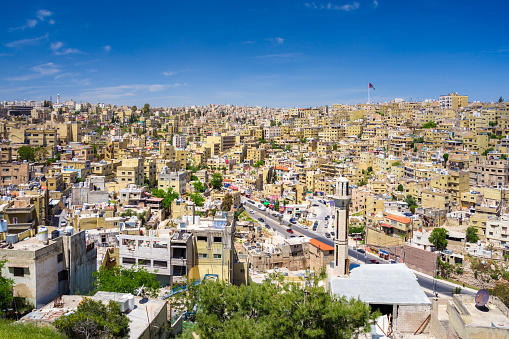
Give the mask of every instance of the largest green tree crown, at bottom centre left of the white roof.
[[208, 281], [182, 297], [200, 310], [195, 331], [202, 338], [346, 339], [369, 331], [375, 315], [368, 305], [333, 297], [316, 280], [304, 287], [275, 276], [242, 286]]

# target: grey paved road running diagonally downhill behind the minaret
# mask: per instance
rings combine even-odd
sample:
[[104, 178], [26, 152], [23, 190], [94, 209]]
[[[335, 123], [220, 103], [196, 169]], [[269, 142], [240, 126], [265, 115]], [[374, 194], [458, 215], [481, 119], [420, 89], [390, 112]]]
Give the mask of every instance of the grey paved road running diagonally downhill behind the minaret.
[[[251, 214], [251, 217], [253, 219], [257, 220], [258, 218], [262, 218], [264, 220], [264, 222], [262, 223], [263, 225], [268, 224], [273, 230], [281, 233], [285, 237], [291, 236], [291, 234], [287, 232], [287, 229], [289, 228], [289, 227], [287, 227], [289, 224], [288, 221], [283, 220], [283, 223], [280, 223], [279, 220], [277, 219], [277, 217], [270, 215], [270, 213], [271, 212], [273, 213], [274, 211], [271, 211], [271, 210], [260, 211], [256, 207], [256, 205], [250, 204], [247, 200], [248, 199], [242, 198], [242, 201], [245, 202], [246, 210], [254, 211], [254, 213]], [[318, 217], [318, 213], [317, 213], [317, 217]], [[316, 232], [311, 229], [303, 229], [298, 225], [292, 225], [291, 229], [294, 231], [293, 235], [295, 235], [295, 236], [304, 235], [304, 236], [316, 239], [318, 241], [321, 241], [324, 244], [327, 244], [329, 246], [334, 246], [333, 240], [331, 238], [326, 238], [325, 236], [320, 234], [320, 232]], [[372, 255], [370, 253], [367, 253], [366, 255], [359, 253], [352, 247], [348, 248], [348, 255], [354, 259], [357, 259], [361, 263], [365, 262], [366, 264], [371, 264], [370, 260], [376, 259], [381, 264], [388, 264], [387, 261], [380, 259], [379, 257], [377, 257], [375, 255]], [[419, 283], [421, 288], [423, 288], [423, 290], [426, 292], [426, 294], [428, 296], [432, 296], [433, 283], [434, 283], [432, 278], [417, 275], [417, 282]], [[451, 290], [453, 288], [452, 286], [450, 286], [449, 284], [445, 284], [439, 280], [435, 280], [435, 284], [436, 284], [435, 290], [437, 293], [439, 293], [443, 296], [449, 296], [449, 297], [452, 296], [452, 294], [451, 294]], [[461, 294], [474, 294], [474, 293], [472, 293], [470, 291], [462, 290]]]

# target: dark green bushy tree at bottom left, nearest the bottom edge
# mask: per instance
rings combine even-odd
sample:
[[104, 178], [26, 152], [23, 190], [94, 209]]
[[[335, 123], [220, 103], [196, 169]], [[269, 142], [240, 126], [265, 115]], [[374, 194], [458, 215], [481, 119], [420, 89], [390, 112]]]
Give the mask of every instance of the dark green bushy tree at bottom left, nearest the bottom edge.
[[108, 305], [85, 298], [75, 312], [63, 315], [55, 327], [69, 338], [127, 338], [129, 318], [120, 305], [110, 300]]

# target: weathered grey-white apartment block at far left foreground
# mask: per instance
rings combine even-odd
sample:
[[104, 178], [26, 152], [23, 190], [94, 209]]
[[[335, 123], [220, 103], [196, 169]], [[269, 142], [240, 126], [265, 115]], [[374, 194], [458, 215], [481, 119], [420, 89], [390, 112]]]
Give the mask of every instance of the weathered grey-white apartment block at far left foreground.
[[2, 276], [14, 281], [14, 295], [40, 308], [62, 294], [90, 291], [97, 249], [87, 245], [85, 231], [40, 232], [36, 237], [22, 232], [18, 241], [0, 246], [0, 259], [6, 260]]

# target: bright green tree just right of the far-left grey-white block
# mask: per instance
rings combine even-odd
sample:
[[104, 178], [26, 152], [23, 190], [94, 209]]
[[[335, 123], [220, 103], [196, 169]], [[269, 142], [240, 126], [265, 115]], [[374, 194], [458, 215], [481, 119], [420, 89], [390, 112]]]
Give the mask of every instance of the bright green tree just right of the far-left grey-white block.
[[157, 297], [159, 282], [155, 273], [147, 271], [143, 266], [114, 266], [100, 267], [92, 273], [95, 278], [95, 291], [138, 294], [143, 287], [142, 294]]

